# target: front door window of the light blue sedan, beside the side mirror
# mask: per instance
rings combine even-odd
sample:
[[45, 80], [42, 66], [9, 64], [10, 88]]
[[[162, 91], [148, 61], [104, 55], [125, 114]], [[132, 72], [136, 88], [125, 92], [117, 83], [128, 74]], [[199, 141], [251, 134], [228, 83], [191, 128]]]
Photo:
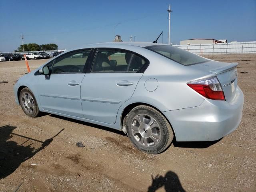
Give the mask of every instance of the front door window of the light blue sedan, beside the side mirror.
[[90, 50], [82, 50], [65, 54], [54, 60], [52, 73], [83, 72]]

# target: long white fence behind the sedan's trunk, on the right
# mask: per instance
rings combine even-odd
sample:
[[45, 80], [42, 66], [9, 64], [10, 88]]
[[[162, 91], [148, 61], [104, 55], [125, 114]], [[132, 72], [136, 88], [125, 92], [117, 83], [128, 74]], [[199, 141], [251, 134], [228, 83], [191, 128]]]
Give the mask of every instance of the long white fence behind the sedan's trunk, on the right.
[[218, 43], [218, 44], [190, 44], [174, 45], [178, 48], [196, 54], [248, 54], [256, 53], [256, 41]]

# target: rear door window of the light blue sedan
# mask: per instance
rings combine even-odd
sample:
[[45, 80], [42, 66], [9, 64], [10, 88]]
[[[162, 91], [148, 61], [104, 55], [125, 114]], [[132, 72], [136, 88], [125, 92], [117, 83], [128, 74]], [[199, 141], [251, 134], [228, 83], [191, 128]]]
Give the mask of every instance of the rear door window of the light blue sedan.
[[130, 52], [119, 50], [99, 50], [92, 72], [138, 72], [146, 61]]

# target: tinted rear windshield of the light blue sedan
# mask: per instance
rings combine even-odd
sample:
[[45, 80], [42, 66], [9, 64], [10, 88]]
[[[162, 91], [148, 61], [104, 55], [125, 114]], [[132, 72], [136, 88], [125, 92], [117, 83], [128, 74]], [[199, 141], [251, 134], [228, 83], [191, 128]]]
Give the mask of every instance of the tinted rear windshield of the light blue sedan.
[[152, 50], [182, 65], [193, 65], [208, 61], [206, 58], [202, 58], [196, 54], [170, 45], [153, 45], [147, 46], [145, 48], [148, 50]]

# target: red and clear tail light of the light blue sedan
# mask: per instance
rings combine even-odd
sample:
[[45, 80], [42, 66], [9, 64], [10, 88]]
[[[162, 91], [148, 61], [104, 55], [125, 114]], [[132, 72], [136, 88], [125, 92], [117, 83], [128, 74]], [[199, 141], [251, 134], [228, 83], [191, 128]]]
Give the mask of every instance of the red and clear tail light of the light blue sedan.
[[224, 92], [217, 77], [188, 82], [187, 85], [208, 99], [225, 100]]

